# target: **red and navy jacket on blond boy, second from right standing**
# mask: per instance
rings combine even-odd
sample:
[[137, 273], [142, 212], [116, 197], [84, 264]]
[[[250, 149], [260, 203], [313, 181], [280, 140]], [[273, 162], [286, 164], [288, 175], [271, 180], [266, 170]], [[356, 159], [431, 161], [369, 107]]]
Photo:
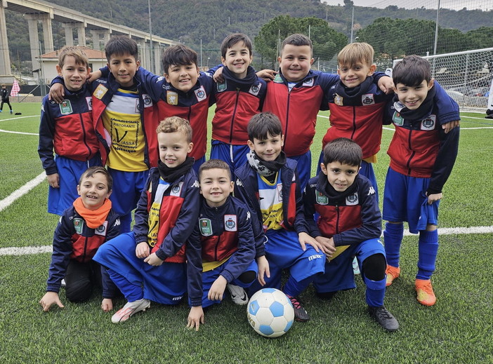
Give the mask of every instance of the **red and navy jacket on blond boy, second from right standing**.
[[322, 150], [331, 140], [347, 137], [361, 147], [363, 159], [378, 153], [383, 114], [392, 95], [383, 93], [374, 79], [380, 77], [367, 77], [357, 90], [346, 89], [340, 80], [329, 89], [326, 101], [330, 109], [331, 127], [322, 140]]

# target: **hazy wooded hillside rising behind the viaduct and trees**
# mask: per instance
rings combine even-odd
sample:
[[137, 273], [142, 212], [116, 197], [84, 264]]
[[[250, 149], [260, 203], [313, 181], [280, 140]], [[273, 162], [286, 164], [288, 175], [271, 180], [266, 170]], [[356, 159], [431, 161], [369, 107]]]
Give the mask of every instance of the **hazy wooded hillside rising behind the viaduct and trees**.
[[[147, 30], [149, 28], [146, 0], [53, 0], [67, 8], [104, 18], [112, 22]], [[317, 0], [156, 0], [151, 2], [153, 33], [199, 50], [216, 54], [221, 40], [231, 32], [244, 32], [253, 39], [265, 22], [277, 15], [294, 17], [314, 16], [329, 22], [339, 32], [350, 33], [350, 8], [326, 6]], [[397, 6], [386, 9], [355, 7], [356, 27], [365, 27], [376, 18], [419, 18], [435, 20], [435, 11], [419, 8], [406, 10]], [[27, 22], [22, 15], [6, 9], [9, 48], [13, 63], [29, 60]], [[467, 32], [492, 25], [493, 11], [440, 11], [440, 26]], [[53, 22], [55, 48], [65, 44], [65, 32], [60, 23]], [[40, 34], [40, 39], [42, 36]], [[215, 61], [211, 58], [211, 62]]]

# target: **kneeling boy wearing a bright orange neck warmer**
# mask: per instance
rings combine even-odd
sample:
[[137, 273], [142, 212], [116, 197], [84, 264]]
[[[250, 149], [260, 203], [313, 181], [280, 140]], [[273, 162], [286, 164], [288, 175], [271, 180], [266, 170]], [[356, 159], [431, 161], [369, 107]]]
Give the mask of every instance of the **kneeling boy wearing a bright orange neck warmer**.
[[103, 167], [88, 168], [80, 177], [77, 191], [80, 197], [63, 212], [55, 230], [46, 294], [39, 304], [44, 311], [53, 304], [63, 307], [58, 292], [65, 278], [65, 295], [70, 302], [86, 301], [93, 286], [103, 283], [101, 308], [111, 311], [117, 288], [106, 269], [91, 259], [100, 245], [120, 233], [119, 218], [108, 199], [112, 178]]

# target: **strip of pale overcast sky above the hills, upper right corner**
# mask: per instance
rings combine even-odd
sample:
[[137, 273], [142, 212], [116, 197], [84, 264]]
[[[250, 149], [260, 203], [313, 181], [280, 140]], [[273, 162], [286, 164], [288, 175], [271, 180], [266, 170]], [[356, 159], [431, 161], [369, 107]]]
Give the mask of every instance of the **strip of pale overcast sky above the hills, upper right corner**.
[[[372, 6], [374, 8], [386, 8], [389, 5], [397, 5], [400, 8], [437, 8], [438, 0], [353, 0], [355, 6]], [[344, 0], [322, 0], [329, 5], [344, 4]], [[483, 11], [493, 9], [493, 0], [440, 0], [440, 8], [461, 10], [461, 8], [481, 9]], [[492, 20], [493, 21], [493, 20]]]

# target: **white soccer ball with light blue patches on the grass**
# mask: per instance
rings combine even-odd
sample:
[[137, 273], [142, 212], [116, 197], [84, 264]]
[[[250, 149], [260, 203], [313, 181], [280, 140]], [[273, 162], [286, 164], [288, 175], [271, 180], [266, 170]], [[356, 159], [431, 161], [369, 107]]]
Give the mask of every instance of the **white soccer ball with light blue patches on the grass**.
[[251, 327], [260, 335], [279, 337], [293, 325], [294, 309], [282, 291], [263, 288], [251, 296], [247, 317]]

